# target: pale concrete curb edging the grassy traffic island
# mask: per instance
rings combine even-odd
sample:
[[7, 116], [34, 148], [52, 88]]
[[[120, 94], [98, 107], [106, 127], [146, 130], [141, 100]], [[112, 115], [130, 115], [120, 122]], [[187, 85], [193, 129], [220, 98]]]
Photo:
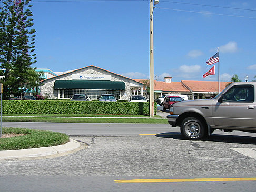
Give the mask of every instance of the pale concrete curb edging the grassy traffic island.
[[70, 142], [67, 142], [66, 144], [51, 147], [40, 147], [20, 150], [2, 150], [0, 151], [0, 160], [60, 155], [73, 151], [79, 147], [79, 142], [70, 139]]

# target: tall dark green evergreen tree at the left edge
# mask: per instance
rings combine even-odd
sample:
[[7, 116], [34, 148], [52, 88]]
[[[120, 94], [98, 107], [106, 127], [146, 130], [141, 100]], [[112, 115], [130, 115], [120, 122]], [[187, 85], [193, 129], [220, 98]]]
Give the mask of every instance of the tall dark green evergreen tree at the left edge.
[[[36, 84], [39, 80], [37, 74], [29, 73], [35, 69], [31, 65], [36, 62], [30, 1], [3, 0], [0, 6], [0, 76], [3, 76], [4, 99], [10, 94], [20, 95], [26, 84]], [[29, 82], [31, 79], [35, 82]]]

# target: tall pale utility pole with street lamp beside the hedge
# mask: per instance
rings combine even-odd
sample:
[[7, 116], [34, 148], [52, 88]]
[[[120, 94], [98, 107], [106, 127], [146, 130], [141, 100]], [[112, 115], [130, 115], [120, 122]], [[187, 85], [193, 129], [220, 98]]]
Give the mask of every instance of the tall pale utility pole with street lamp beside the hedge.
[[[154, 1], [154, 5], [158, 4], [159, 0]], [[150, 0], [150, 117], [154, 117], [154, 46], [153, 46], [153, 0]]]

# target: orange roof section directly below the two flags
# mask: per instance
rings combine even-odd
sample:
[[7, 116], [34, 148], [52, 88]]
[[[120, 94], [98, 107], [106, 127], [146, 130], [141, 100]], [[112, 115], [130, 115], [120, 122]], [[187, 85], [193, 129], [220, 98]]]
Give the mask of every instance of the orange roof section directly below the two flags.
[[[181, 83], [193, 92], [218, 92], [218, 82], [182, 80]], [[220, 91], [230, 82], [220, 82]]]

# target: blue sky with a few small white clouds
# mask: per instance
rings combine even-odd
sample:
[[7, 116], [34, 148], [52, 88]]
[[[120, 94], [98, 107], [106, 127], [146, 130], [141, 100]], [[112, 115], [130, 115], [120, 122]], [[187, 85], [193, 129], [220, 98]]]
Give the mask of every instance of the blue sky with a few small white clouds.
[[[149, 78], [149, 0], [56, 1], [31, 2], [34, 67], [61, 72], [95, 65]], [[234, 74], [256, 80], [255, 34], [254, 0], [160, 0], [154, 9], [154, 74], [175, 82], [218, 80], [218, 63], [216, 75], [202, 75], [220, 47], [220, 80]]]

